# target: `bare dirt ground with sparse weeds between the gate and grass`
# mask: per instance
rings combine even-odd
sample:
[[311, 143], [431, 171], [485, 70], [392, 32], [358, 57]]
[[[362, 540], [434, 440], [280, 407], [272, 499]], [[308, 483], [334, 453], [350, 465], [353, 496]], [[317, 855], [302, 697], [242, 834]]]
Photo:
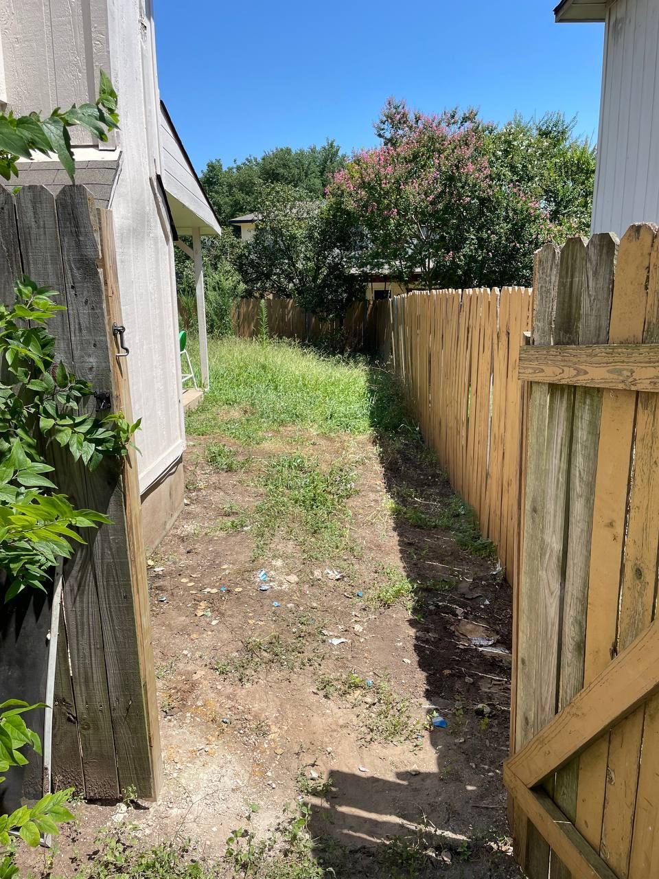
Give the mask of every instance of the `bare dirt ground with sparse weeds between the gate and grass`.
[[[267, 839], [303, 802], [326, 875], [518, 875], [502, 784], [511, 593], [491, 557], [428, 527], [455, 502], [437, 465], [414, 439], [289, 429], [228, 441], [244, 469], [222, 472], [208, 442], [192, 438], [185, 510], [148, 559], [162, 798], [76, 806], [47, 874], [93, 860], [104, 826], [221, 861], [235, 829]], [[254, 473], [296, 449], [354, 470], [343, 558], [294, 531], [255, 550]]]

